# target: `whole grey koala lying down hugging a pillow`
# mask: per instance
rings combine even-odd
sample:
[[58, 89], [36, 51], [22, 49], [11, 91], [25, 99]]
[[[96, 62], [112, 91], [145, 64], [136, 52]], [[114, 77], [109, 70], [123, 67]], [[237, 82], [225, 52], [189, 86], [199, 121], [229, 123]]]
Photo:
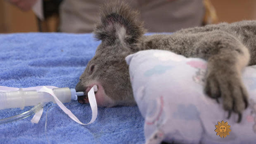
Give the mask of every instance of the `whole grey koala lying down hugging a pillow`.
[[96, 84], [98, 106], [136, 105], [126, 56], [148, 49], [167, 50], [207, 60], [204, 92], [217, 102], [222, 98], [228, 118], [235, 112], [240, 122], [248, 106], [242, 70], [256, 64], [256, 21], [220, 23], [182, 29], [171, 35], [146, 36], [138, 14], [123, 2], [110, 2], [102, 7], [100, 22], [94, 30], [101, 44], [81, 75], [76, 91], [87, 92]]

